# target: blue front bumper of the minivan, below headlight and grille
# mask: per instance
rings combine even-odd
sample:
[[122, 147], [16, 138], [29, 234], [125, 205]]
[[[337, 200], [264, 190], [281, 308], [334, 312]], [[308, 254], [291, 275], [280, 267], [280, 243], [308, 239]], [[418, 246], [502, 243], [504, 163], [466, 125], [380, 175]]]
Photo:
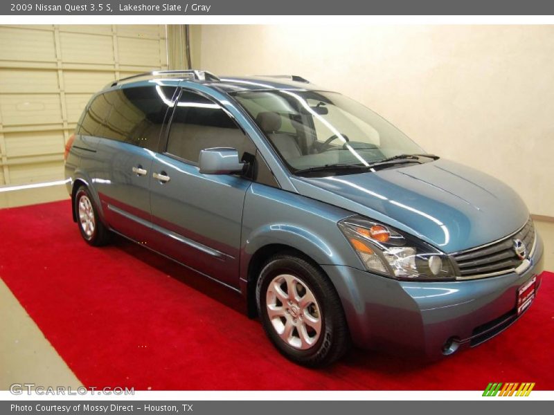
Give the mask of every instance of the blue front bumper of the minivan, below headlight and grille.
[[357, 347], [438, 358], [458, 346], [476, 346], [517, 320], [517, 290], [534, 276], [540, 286], [543, 249], [537, 235], [521, 275], [456, 282], [403, 282], [348, 266], [322, 267], [341, 297]]

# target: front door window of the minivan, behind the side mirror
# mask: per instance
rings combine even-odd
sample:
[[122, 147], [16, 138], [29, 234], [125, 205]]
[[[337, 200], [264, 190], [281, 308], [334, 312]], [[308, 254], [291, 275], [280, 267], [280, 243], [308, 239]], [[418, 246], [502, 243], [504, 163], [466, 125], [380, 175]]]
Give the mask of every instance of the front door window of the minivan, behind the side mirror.
[[256, 154], [256, 147], [219, 104], [202, 95], [183, 91], [171, 122], [167, 152], [198, 162], [200, 150], [233, 147]]

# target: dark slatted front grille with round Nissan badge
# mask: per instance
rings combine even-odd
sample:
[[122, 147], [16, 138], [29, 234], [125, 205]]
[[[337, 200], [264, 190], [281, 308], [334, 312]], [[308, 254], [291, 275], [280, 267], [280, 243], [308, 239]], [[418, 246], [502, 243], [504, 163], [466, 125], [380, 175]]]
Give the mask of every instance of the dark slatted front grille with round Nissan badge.
[[526, 246], [526, 255], [533, 249], [535, 227], [531, 219], [515, 234], [501, 241], [481, 248], [473, 248], [453, 254], [460, 277], [483, 277], [489, 274], [498, 275], [517, 268], [522, 260], [514, 250], [514, 240], [521, 239]]

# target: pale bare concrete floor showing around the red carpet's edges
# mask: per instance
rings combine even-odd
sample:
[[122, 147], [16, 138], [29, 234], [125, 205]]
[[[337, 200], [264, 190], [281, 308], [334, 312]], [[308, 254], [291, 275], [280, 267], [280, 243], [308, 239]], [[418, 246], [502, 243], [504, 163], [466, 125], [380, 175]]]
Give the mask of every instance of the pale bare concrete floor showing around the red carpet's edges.
[[[64, 185], [12, 192], [2, 192], [0, 187], [0, 208], [68, 198]], [[554, 270], [554, 222], [535, 221], [535, 226], [545, 244], [544, 268]], [[0, 390], [15, 382], [73, 389], [81, 385], [1, 279], [0, 333]]]

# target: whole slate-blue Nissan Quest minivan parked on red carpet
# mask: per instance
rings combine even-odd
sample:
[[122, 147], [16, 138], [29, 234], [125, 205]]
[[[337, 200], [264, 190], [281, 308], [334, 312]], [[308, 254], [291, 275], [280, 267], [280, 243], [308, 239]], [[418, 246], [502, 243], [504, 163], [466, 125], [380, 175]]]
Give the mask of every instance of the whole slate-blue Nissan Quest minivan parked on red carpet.
[[474, 347], [541, 283], [542, 240], [510, 187], [301, 77], [113, 82], [65, 157], [87, 243], [120, 234], [239, 291], [301, 365], [351, 344], [429, 358]]

